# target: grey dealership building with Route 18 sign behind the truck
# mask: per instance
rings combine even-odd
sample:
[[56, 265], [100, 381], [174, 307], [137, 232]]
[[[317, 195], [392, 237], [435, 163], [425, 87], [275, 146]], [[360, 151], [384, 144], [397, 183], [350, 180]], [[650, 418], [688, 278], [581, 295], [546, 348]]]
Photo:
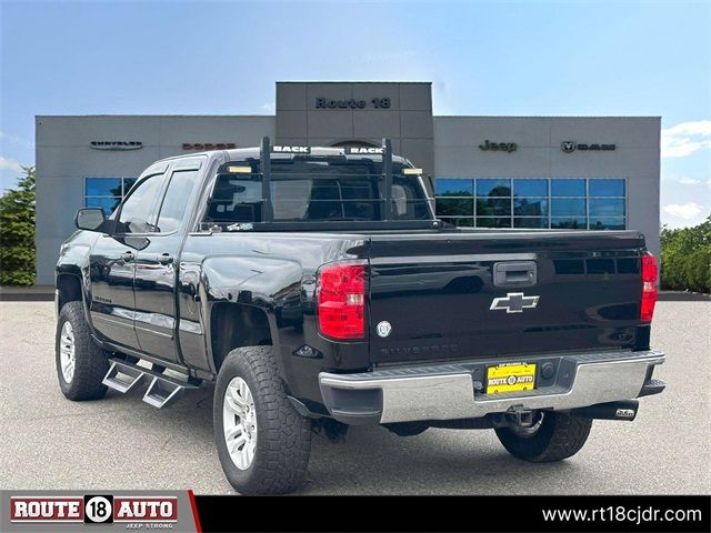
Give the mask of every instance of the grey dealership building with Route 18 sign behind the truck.
[[[659, 117], [438, 117], [429, 82], [278, 82], [274, 115], [39, 115], [38, 284], [82, 207], [110, 212], [153, 161], [274, 144], [380, 145], [469, 228], [633, 229], [659, 251]], [[482, 104], [482, 111], [485, 107]]]

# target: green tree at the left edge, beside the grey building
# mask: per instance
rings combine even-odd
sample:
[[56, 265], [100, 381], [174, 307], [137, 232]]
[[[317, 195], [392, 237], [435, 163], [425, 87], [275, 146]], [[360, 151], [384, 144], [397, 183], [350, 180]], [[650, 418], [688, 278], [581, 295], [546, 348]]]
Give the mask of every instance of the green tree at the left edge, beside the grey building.
[[34, 167], [0, 197], [0, 285], [34, 283]]

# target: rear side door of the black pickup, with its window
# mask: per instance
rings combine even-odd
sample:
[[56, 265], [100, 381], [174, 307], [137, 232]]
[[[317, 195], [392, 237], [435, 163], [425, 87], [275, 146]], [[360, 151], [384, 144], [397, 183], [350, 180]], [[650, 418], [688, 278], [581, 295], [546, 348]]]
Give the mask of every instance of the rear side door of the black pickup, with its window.
[[176, 282], [196, 181], [204, 158], [176, 161], [158, 204], [154, 232], [136, 258], [136, 333], [141, 351], [180, 360]]

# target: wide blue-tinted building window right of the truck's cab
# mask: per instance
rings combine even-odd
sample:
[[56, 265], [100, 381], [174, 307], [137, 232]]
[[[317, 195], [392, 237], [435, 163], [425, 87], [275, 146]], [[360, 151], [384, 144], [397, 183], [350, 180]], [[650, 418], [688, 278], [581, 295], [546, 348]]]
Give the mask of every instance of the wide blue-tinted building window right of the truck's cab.
[[461, 228], [623, 230], [622, 178], [438, 178], [437, 217]]

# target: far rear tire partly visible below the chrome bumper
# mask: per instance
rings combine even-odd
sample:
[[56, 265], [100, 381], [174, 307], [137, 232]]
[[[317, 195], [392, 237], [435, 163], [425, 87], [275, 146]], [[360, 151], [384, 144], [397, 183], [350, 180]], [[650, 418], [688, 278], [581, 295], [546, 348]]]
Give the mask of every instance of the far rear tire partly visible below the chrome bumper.
[[538, 430], [530, 434], [497, 428], [497, 436], [513, 456], [532, 463], [561, 461], [578, 453], [588, 440], [592, 419], [547, 411]]

